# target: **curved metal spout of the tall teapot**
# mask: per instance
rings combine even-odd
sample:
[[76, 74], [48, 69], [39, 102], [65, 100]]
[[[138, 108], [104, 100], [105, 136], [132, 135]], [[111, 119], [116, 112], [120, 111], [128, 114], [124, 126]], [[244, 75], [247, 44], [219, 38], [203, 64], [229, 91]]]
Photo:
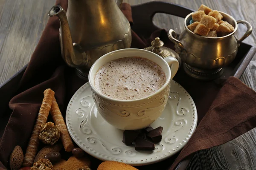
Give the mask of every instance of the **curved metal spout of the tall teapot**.
[[48, 15], [50, 17], [57, 16], [60, 20], [61, 34], [59, 34], [59, 38], [61, 43], [61, 55], [67, 65], [70, 67], [77, 67], [83, 64], [84, 61], [87, 61], [86, 54], [81, 52], [80, 45], [72, 43], [66, 11], [61, 6], [52, 6]]

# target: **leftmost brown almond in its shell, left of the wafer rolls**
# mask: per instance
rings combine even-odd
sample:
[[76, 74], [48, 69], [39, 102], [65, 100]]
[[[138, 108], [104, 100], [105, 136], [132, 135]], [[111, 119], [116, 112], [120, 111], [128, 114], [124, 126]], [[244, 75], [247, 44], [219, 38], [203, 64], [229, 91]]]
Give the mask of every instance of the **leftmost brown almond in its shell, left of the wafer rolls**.
[[11, 170], [17, 170], [21, 167], [24, 156], [20, 146], [15, 146], [10, 156], [10, 167]]

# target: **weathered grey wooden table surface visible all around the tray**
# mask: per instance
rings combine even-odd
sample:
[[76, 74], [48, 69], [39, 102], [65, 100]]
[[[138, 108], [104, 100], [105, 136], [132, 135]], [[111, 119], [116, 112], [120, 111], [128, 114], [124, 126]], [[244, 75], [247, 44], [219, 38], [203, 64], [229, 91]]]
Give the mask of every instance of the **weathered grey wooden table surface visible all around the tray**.
[[[124, 0], [136, 5], [151, 0]], [[236, 20], [247, 20], [256, 28], [256, 0], [164, 0], [192, 9], [205, 4], [212, 9], [226, 12]], [[29, 62], [38, 40], [46, 26], [47, 12], [55, 0], [0, 0], [0, 84], [8, 80]], [[156, 14], [154, 23], [166, 30], [172, 28], [181, 33], [183, 18]], [[246, 31], [239, 25], [236, 36]], [[256, 46], [256, 32], [244, 42]], [[250, 88], [256, 90], [256, 58], [253, 58], [241, 77]], [[2, 96], [3, 97], [3, 96]], [[238, 138], [195, 154], [187, 170], [256, 170], [256, 129]]]

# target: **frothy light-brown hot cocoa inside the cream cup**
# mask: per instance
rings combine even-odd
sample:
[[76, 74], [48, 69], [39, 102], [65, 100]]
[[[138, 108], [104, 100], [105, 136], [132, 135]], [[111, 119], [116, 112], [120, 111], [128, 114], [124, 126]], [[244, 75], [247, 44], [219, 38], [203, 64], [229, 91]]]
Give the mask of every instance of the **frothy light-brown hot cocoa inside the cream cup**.
[[95, 88], [113, 99], [133, 100], [153, 94], [166, 82], [155, 62], [142, 57], [124, 57], [107, 62], [97, 71]]

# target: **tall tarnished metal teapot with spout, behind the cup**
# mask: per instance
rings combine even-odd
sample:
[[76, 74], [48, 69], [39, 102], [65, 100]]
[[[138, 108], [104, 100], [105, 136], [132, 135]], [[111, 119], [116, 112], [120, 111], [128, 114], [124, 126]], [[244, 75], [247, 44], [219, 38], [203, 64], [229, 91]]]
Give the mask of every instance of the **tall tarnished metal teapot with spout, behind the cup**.
[[130, 24], [115, 0], [69, 0], [67, 15], [61, 6], [48, 15], [59, 18], [61, 55], [82, 78], [102, 55], [131, 46]]

